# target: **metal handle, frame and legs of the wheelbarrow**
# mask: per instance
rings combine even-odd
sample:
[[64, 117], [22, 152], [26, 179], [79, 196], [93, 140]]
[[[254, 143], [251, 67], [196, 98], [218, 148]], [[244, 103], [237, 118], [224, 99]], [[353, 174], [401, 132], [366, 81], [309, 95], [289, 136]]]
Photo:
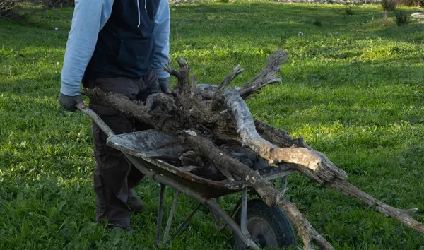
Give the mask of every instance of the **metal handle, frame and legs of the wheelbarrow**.
[[[78, 104], [76, 107], [83, 112], [84, 114], [87, 114], [89, 117], [95, 121], [98, 126], [100, 126], [100, 129], [102, 129], [103, 132], [107, 134], [107, 136], [114, 136], [114, 132], [105, 124], [104, 121], [100, 117], [98, 117], [93, 110], [85, 107], [83, 104]], [[122, 136], [122, 135], [121, 135]], [[136, 166], [137, 169], [139, 169], [140, 172], [145, 174], [146, 176], [150, 177], [151, 179], [158, 181], [160, 183], [160, 197], [159, 197], [159, 205], [158, 205], [158, 225], [156, 228], [156, 244], [160, 244], [160, 242], [170, 242], [172, 239], [174, 239], [179, 232], [182, 232], [184, 228], [187, 226], [189, 220], [193, 218], [193, 216], [196, 214], [196, 212], [199, 210], [201, 205], [207, 206], [209, 210], [211, 210], [211, 213], [213, 215], [213, 220], [215, 221], [216, 228], [218, 230], [223, 230], [225, 227], [230, 227], [232, 232], [237, 234], [240, 239], [247, 245], [248, 248], [254, 248], [259, 249], [257, 244], [255, 244], [252, 240], [252, 238], [249, 235], [249, 232], [247, 230], [247, 200], [248, 200], [248, 186], [245, 184], [244, 181], [235, 181], [235, 183], [223, 183], [223, 182], [217, 182], [217, 181], [211, 181], [203, 178], [196, 177], [193, 174], [184, 172], [180, 169], [178, 169], [175, 166], [166, 164], [163, 161], [160, 160], [154, 160], [151, 157], [148, 157], [146, 155], [141, 154], [141, 152], [134, 151], [133, 148], [125, 148], [122, 145], [119, 145], [119, 143], [112, 143], [109, 141], [109, 138], [107, 140], [107, 145], [111, 146], [112, 148], [116, 148], [117, 150], [122, 151], [122, 153]], [[150, 166], [150, 167], [148, 167]], [[287, 177], [289, 174], [293, 174], [297, 171], [294, 169], [290, 169], [289, 165], [286, 165], [288, 167], [287, 169], [280, 169], [282, 171], [280, 172], [274, 172], [274, 173], [268, 173], [262, 175], [264, 179], [267, 181], [271, 179], [277, 179], [282, 177], [283, 183], [281, 186], [281, 190], [283, 191], [283, 194], [285, 194], [285, 190], [287, 187]], [[155, 169], [155, 171], [153, 171]], [[160, 173], [158, 173], [160, 172]], [[175, 179], [172, 179], [175, 178]], [[203, 194], [194, 191], [194, 189], [190, 189], [188, 186], [184, 185], [194, 185], [198, 184], [196, 188], [204, 188], [206, 186], [206, 191], [211, 188], [215, 189], [215, 191], [220, 189], [219, 196], [212, 197], [206, 197], [210, 195], [210, 192], [204, 192]], [[203, 185], [203, 186], [200, 186]], [[162, 220], [163, 220], [163, 196], [165, 195], [165, 186], [170, 186], [172, 189], [175, 189], [175, 196], [172, 200], [172, 208], [170, 211], [170, 216], [167, 220], [167, 225], [165, 229], [165, 234], [163, 236], [163, 240], [161, 241], [161, 233], [162, 233]], [[194, 187], [194, 186], [193, 186]], [[240, 190], [241, 189], [241, 190]], [[205, 191], [205, 190], [202, 190]], [[236, 204], [235, 208], [232, 209], [232, 212], [230, 215], [223, 210], [223, 208], [219, 205], [219, 197], [225, 196], [228, 194], [233, 194], [237, 191], [242, 192], [242, 197]], [[177, 201], [179, 197], [179, 193], [183, 193], [190, 198], [193, 198], [196, 201], [199, 201], [199, 205], [194, 208], [192, 213], [189, 214], [186, 220], [182, 222], [181, 225], [179, 225], [178, 229], [174, 232], [174, 234], [171, 235], [169, 241], [167, 239], [168, 234], [170, 232], [170, 227], [172, 224], [172, 219], [175, 215], [175, 210], [177, 208]], [[218, 198], [217, 198], [218, 197]], [[216, 201], [214, 201], [216, 200]], [[235, 222], [232, 218], [241, 206], [241, 218], [240, 218], [240, 226], [237, 225], [237, 222]], [[224, 225], [221, 225], [221, 219], [225, 221]]]

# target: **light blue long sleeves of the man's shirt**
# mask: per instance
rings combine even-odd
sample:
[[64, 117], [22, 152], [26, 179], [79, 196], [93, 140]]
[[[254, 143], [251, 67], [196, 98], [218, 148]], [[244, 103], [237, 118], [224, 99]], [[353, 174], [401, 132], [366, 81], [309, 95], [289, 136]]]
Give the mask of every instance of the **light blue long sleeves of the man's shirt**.
[[[64, 66], [61, 71], [60, 92], [79, 95], [79, 87], [88, 62], [93, 56], [98, 33], [112, 13], [114, 0], [76, 0], [71, 30], [66, 42]], [[170, 7], [167, 0], [160, 0], [155, 16], [154, 56], [152, 68], [158, 78], [168, 78], [163, 66], [169, 59]]]

